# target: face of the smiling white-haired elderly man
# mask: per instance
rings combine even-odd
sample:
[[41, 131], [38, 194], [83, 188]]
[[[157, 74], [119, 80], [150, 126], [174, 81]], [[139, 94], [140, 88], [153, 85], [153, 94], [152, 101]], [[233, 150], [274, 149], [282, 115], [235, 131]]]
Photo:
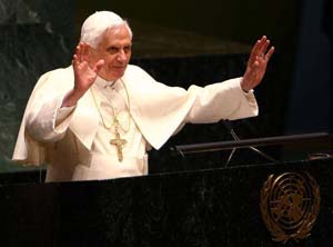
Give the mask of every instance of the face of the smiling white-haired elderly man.
[[125, 24], [109, 29], [97, 49], [91, 48], [89, 63], [93, 68], [100, 59], [104, 65], [99, 76], [105, 80], [121, 78], [127, 69], [132, 53], [132, 39]]

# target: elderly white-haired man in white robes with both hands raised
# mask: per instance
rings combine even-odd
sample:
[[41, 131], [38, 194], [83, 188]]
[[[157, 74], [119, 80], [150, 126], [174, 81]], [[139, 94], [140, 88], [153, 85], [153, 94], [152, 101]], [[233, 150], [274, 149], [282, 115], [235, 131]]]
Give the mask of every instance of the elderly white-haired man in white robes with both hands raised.
[[157, 82], [129, 65], [132, 31], [109, 11], [83, 23], [72, 66], [37, 82], [22, 119], [13, 160], [47, 162], [47, 181], [148, 174], [147, 151], [159, 149], [186, 122], [258, 115], [252, 89], [274, 48], [254, 45], [242, 78], [188, 90]]

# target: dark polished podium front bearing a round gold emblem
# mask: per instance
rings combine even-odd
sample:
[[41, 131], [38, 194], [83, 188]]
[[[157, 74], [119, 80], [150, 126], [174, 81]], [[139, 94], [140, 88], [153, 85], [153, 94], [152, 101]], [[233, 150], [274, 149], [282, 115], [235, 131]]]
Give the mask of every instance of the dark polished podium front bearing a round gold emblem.
[[332, 178], [333, 159], [315, 157], [103, 181], [2, 184], [1, 246], [332, 247]]

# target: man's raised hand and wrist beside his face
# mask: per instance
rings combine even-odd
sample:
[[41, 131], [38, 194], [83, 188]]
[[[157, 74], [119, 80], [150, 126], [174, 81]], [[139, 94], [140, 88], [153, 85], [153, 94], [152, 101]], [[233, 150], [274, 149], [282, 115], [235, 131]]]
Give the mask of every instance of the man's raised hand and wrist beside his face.
[[79, 43], [73, 55], [72, 66], [74, 70], [74, 88], [65, 96], [61, 107], [75, 106], [78, 100], [94, 82], [98, 72], [104, 65], [104, 60], [98, 60], [94, 65], [89, 65], [89, 45]]

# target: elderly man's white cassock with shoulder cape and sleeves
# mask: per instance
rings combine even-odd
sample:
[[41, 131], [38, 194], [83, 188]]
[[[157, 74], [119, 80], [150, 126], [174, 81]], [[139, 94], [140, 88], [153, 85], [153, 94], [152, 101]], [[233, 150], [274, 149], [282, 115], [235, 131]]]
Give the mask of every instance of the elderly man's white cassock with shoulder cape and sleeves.
[[[47, 181], [141, 176], [148, 172], [147, 150], [159, 149], [184, 124], [258, 115], [254, 95], [241, 89], [241, 78], [184, 90], [157, 82], [129, 65], [121, 80], [111, 87], [98, 78], [77, 106], [67, 109], [61, 105], [73, 88], [72, 67], [41, 76], [28, 101], [12, 159], [37, 166], [47, 162]], [[113, 110], [120, 136], [127, 140], [122, 161], [110, 145], [115, 137]]]

